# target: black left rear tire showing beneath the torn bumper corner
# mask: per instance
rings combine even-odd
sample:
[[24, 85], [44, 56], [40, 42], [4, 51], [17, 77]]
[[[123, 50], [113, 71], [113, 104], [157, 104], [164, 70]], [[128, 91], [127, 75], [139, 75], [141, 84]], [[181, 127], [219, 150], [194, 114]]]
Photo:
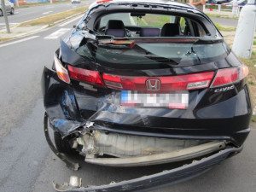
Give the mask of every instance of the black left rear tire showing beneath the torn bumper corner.
[[59, 132], [54, 132], [55, 146], [62, 154], [74, 154], [74, 150], [71, 148], [67, 139], [62, 139]]

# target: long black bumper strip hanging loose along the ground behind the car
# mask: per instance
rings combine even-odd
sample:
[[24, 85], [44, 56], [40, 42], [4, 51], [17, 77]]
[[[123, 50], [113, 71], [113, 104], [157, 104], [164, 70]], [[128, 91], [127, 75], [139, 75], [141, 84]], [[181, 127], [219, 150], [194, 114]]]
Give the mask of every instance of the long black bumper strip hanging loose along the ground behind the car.
[[[102, 186], [83, 187], [79, 177], [71, 177], [69, 184], [63, 185], [53, 183], [56, 191], [68, 191], [68, 192], [87, 192], [87, 191], [148, 191], [149, 189], [158, 189], [161, 186], [171, 185], [179, 181], [184, 181], [192, 177], [196, 177], [203, 172], [207, 172], [212, 166], [218, 165], [223, 160], [227, 159], [230, 155], [239, 153], [240, 148], [226, 148], [218, 152], [218, 154], [212, 154], [207, 158], [193, 161], [189, 165], [177, 167], [175, 169], [156, 173], [150, 176], [139, 177], [131, 179], [129, 181], [123, 181], [119, 183], [110, 183]], [[74, 182], [77, 180], [77, 182]]]

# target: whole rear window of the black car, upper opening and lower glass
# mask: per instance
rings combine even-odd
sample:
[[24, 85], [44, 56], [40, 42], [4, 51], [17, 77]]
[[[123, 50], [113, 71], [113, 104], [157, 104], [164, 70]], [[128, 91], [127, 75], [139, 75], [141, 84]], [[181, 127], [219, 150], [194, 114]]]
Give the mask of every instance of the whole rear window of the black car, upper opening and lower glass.
[[76, 52], [115, 68], [194, 66], [229, 55], [230, 48], [217, 33], [209, 34], [203, 22], [191, 18], [148, 13], [103, 15], [95, 20], [96, 43], [82, 44]]

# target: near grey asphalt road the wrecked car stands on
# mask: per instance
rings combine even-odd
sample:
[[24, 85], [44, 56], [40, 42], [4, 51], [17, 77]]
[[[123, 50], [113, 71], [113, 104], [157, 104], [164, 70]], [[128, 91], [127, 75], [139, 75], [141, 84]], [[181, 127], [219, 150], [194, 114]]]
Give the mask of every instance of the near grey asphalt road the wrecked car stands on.
[[[82, 177], [84, 185], [100, 185], [142, 177], [173, 166], [113, 168], [84, 163], [82, 169], [73, 172], [49, 150], [43, 130], [41, 75], [44, 66], [52, 65], [59, 38], [66, 36], [75, 23], [22, 38], [22, 43], [15, 40], [0, 44], [1, 192], [53, 192], [52, 181], [64, 183], [71, 175]], [[157, 191], [255, 191], [256, 125], [253, 127], [241, 154], [200, 177]]]

